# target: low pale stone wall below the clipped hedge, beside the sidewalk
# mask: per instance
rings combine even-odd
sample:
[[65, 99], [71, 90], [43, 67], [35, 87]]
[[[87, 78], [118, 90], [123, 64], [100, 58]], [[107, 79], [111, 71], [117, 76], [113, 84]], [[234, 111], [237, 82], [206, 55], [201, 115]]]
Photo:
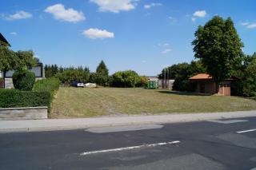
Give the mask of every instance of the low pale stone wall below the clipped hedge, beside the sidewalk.
[[0, 108], [1, 120], [47, 119], [47, 107]]

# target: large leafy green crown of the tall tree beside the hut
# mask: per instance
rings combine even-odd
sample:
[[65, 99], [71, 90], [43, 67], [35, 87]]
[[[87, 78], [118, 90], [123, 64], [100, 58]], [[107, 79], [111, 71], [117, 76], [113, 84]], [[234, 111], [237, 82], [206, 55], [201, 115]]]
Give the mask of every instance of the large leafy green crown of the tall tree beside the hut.
[[194, 57], [202, 60], [216, 85], [241, 65], [243, 44], [231, 18], [215, 16], [205, 26], [198, 26], [194, 36]]

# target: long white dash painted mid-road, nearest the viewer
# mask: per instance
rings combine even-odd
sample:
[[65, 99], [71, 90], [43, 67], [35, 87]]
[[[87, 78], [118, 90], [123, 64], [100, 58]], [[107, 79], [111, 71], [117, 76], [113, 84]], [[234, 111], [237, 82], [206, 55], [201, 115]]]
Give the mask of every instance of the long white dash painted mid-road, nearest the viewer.
[[142, 145], [130, 146], [130, 147], [126, 147], [126, 148], [110, 148], [110, 149], [106, 149], [106, 150], [82, 152], [82, 153], [80, 153], [80, 156], [86, 156], [86, 155], [91, 155], [91, 154], [95, 154], [95, 153], [116, 152], [116, 151], [130, 150], [130, 149], [134, 149], [134, 148], [155, 147], [155, 146], [161, 146], [161, 145], [166, 145], [166, 144], [178, 144], [178, 143], [180, 143], [180, 141], [175, 140], [175, 141], [171, 141], [171, 142], [162, 142], [162, 143], [158, 143], [158, 144], [142, 144]]

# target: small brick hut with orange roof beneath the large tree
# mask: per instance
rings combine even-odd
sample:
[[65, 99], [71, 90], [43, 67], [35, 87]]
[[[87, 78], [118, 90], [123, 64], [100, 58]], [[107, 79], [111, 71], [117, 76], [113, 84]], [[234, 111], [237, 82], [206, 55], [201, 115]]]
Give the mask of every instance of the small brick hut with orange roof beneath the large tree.
[[197, 93], [218, 94], [222, 96], [230, 96], [230, 85], [232, 78], [222, 81], [219, 85], [213, 80], [207, 73], [198, 73], [197, 75], [190, 77], [190, 81], [197, 82]]

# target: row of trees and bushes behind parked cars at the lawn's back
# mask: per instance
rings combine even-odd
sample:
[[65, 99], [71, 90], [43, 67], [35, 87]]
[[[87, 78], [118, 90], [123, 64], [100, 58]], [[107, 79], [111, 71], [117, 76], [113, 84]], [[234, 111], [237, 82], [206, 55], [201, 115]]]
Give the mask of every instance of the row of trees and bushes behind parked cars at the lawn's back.
[[96, 83], [102, 86], [113, 87], [142, 87], [147, 85], [147, 77], [140, 77], [132, 70], [118, 71], [109, 75], [104, 61], [101, 61], [96, 72], [90, 72], [87, 67], [58, 67], [58, 65], [45, 65], [46, 77], [58, 77], [63, 84], [72, 81]]

